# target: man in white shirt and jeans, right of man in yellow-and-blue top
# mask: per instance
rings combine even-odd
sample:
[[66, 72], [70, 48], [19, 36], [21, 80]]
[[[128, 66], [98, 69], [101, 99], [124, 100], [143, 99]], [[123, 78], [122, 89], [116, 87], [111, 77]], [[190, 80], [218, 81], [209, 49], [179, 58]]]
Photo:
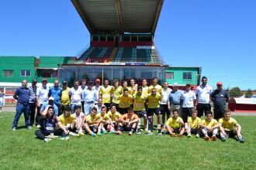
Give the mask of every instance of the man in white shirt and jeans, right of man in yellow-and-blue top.
[[69, 97], [71, 99], [71, 113], [74, 114], [74, 107], [81, 105], [81, 87], [79, 87], [79, 81], [74, 80], [74, 87], [69, 90]]

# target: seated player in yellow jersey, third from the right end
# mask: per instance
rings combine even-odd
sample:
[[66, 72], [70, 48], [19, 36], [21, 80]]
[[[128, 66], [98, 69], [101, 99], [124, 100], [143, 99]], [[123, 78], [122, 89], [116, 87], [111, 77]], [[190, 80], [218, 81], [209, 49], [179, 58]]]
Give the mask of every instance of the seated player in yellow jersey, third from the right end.
[[201, 119], [197, 117], [197, 110], [192, 110], [192, 117], [188, 118], [188, 123], [185, 123], [185, 130], [188, 134], [188, 137], [191, 137], [191, 134], [195, 134], [196, 138], [199, 138], [199, 124]]

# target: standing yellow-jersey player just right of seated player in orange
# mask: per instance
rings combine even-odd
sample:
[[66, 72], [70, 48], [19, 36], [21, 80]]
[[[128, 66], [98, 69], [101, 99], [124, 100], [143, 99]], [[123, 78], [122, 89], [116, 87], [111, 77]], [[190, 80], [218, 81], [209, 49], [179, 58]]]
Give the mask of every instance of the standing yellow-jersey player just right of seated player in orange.
[[142, 87], [138, 87], [137, 93], [133, 95], [133, 111], [139, 117], [137, 125], [137, 134], [141, 134], [140, 131], [140, 119], [144, 117], [144, 128], [147, 126], [147, 111], [145, 109], [145, 102], [147, 95], [142, 93]]

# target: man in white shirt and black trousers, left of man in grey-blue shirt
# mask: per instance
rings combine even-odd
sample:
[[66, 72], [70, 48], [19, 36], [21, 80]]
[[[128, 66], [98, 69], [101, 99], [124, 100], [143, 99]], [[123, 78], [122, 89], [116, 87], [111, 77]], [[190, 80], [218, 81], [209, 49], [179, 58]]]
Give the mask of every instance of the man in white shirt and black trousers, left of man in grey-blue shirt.
[[161, 93], [161, 101], [160, 101], [160, 110], [162, 115], [162, 124], [165, 122], [165, 113], [166, 113], [166, 120], [171, 117], [171, 112], [168, 110], [168, 97], [171, 93], [171, 89], [168, 87], [168, 83], [164, 82], [164, 88], [162, 89]]

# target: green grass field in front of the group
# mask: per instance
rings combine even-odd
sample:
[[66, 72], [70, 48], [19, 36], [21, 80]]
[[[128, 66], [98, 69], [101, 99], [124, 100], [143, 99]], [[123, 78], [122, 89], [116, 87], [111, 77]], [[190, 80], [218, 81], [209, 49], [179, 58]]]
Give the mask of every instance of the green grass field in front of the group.
[[[1, 169], [255, 169], [256, 117], [235, 117], [245, 143], [169, 135], [36, 139], [33, 130], [12, 131], [13, 113], [0, 114]], [[19, 120], [19, 127], [24, 119]]]

